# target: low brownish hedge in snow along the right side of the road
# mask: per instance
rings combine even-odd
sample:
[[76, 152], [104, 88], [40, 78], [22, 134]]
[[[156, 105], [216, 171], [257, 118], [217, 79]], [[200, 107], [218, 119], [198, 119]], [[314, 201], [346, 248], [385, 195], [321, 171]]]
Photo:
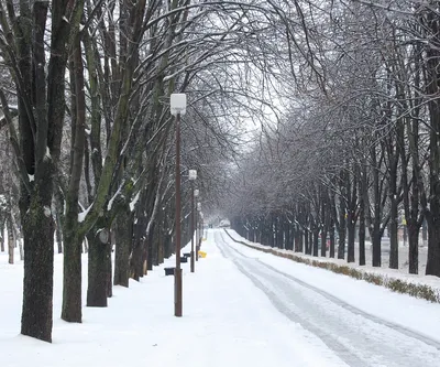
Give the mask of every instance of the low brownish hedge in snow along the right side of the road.
[[359, 280], [365, 280], [369, 283], [385, 287], [385, 288], [392, 290], [393, 292], [409, 294], [409, 295], [413, 295], [418, 299], [424, 299], [424, 300], [427, 300], [430, 302], [440, 303], [440, 291], [438, 288], [435, 288], [431, 285], [411, 283], [411, 282], [408, 282], [403, 279], [393, 278], [393, 277], [389, 277], [386, 274], [369, 272], [366, 270], [359, 270], [359, 269], [351, 268], [348, 266], [340, 266], [334, 262], [317, 261], [314, 259], [307, 259], [301, 256], [297, 256], [295, 253], [278, 251], [276, 248], [271, 248], [271, 247], [264, 248], [264, 247], [253, 246], [251, 244], [246, 244], [246, 242], [237, 240], [227, 230], [224, 230], [224, 231], [233, 241], [244, 245], [244, 246], [248, 246], [254, 250], [263, 251], [266, 253], [272, 253], [272, 255], [275, 255], [275, 256], [278, 256], [278, 257], [282, 257], [285, 259], [289, 259], [289, 260], [293, 260], [296, 262], [305, 263], [305, 265], [308, 265], [311, 267], [330, 270], [338, 274], [348, 276], [348, 277], [355, 278]]

